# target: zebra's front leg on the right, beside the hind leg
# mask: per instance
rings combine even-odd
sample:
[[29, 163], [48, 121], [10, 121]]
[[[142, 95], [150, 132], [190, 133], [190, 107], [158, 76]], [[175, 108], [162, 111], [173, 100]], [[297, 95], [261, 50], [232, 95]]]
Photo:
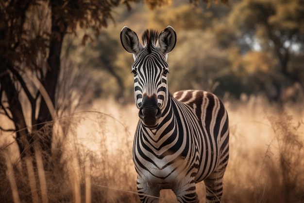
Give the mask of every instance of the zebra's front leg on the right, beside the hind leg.
[[172, 189], [179, 203], [199, 203], [197, 198], [195, 182]]

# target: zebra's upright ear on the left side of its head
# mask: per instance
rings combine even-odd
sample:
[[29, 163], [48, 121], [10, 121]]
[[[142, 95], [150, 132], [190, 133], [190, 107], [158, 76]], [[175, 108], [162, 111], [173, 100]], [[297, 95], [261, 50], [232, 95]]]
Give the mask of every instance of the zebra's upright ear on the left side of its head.
[[127, 26], [124, 26], [121, 29], [120, 41], [123, 48], [127, 52], [133, 54], [134, 57], [142, 50], [142, 45], [140, 44], [136, 33]]

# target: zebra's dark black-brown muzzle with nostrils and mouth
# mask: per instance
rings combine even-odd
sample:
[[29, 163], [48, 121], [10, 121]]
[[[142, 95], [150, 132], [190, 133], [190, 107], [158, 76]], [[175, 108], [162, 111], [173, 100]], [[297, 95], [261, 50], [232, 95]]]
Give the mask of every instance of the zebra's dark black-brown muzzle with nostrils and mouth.
[[162, 112], [158, 106], [156, 95], [151, 97], [143, 96], [138, 116], [147, 127], [154, 127], [158, 124], [158, 119], [162, 116]]

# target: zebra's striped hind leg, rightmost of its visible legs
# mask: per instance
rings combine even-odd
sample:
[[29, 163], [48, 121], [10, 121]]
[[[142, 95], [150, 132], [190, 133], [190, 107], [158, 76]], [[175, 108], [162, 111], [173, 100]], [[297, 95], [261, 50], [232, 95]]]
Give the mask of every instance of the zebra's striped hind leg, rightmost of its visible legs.
[[206, 203], [220, 203], [223, 194], [223, 175], [222, 171], [213, 172], [204, 180], [206, 185]]

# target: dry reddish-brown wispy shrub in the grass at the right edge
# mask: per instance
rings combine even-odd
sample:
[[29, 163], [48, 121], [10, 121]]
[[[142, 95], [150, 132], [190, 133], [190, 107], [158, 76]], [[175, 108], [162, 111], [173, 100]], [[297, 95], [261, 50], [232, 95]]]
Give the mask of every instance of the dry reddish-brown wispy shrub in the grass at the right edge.
[[293, 124], [292, 116], [287, 112], [268, 119], [276, 136], [266, 151], [263, 168], [266, 171], [265, 196], [260, 202], [304, 201], [304, 151], [298, 131], [302, 123]]

